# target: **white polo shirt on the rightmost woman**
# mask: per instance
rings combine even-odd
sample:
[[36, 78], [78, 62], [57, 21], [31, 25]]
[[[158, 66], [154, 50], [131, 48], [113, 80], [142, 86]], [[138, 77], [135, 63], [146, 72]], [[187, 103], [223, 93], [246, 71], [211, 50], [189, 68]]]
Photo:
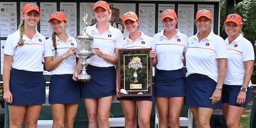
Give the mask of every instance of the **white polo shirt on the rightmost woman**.
[[[226, 85], [243, 85], [245, 74], [244, 61], [255, 60], [254, 49], [251, 42], [240, 34], [233, 42], [229, 44], [229, 38], [226, 40], [228, 47], [228, 68], [224, 80]], [[251, 87], [251, 81], [249, 87]]]

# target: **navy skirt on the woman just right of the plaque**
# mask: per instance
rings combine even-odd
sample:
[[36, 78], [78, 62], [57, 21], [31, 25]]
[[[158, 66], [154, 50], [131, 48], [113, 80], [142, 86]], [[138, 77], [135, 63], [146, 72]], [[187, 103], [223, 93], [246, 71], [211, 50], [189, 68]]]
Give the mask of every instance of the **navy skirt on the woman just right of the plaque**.
[[154, 97], [185, 97], [186, 81], [182, 69], [174, 71], [156, 70]]

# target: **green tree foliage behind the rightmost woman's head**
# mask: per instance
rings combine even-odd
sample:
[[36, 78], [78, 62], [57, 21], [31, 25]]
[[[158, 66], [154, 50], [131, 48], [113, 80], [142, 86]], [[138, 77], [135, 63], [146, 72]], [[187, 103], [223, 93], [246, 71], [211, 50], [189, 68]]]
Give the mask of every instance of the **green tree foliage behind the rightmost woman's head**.
[[[235, 4], [235, 13], [239, 14], [243, 20], [242, 31], [244, 37], [254, 46], [256, 52], [256, 0], [243, 0]], [[226, 19], [226, 0], [221, 0], [221, 19], [220, 19], [220, 36], [225, 39], [227, 37], [224, 30], [224, 22]], [[256, 55], [256, 53], [255, 53]], [[254, 64], [256, 66], [256, 63]], [[256, 67], [252, 74], [252, 82], [256, 83]]]

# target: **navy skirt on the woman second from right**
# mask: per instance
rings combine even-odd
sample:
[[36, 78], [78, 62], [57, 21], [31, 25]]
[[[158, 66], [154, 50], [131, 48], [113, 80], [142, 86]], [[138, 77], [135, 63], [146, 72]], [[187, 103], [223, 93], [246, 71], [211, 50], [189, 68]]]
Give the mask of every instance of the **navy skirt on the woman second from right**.
[[222, 101], [216, 104], [209, 99], [216, 89], [216, 81], [203, 74], [190, 74], [186, 78], [185, 106], [220, 109]]

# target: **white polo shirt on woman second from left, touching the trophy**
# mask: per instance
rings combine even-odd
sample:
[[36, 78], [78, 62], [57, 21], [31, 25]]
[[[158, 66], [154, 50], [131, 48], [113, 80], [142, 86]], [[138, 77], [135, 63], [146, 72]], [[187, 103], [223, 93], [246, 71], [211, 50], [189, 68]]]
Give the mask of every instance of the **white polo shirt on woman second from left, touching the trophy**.
[[[65, 54], [70, 47], [75, 47], [77, 48], [77, 42], [74, 39], [74, 37], [71, 37], [69, 34], [68, 35], [68, 39], [66, 42], [62, 41], [59, 39], [59, 37], [56, 35], [56, 48], [57, 48], [57, 57], [56, 59], [58, 59], [61, 55]], [[52, 37], [48, 38], [45, 41], [45, 51], [44, 51], [44, 57], [48, 57], [48, 56], [52, 56], [54, 57], [55, 55], [55, 50], [53, 47], [53, 40]], [[76, 66], [76, 56], [71, 55], [69, 57], [67, 57], [66, 59], [64, 59], [60, 65], [55, 68], [54, 70], [51, 71], [51, 74], [73, 74], [74, 73], [74, 68]], [[54, 59], [54, 60], [56, 60]]]

